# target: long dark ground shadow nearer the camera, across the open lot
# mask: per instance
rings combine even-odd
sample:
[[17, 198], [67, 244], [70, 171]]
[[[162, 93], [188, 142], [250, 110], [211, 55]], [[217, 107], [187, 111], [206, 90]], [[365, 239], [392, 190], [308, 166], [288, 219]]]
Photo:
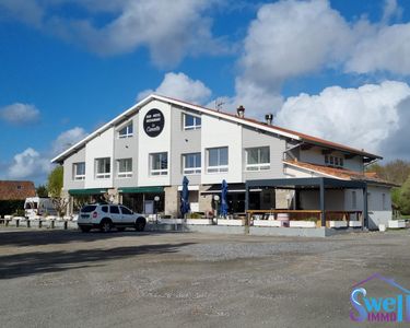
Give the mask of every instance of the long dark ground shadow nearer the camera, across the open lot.
[[0, 257], [0, 280], [37, 273], [58, 272], [75, 268], [103, 265], [103, 261], [139, 255], [177, 253], [192, 243], [142, 245], [116, 248], [81, 249], [74, 251], [33, 251]]

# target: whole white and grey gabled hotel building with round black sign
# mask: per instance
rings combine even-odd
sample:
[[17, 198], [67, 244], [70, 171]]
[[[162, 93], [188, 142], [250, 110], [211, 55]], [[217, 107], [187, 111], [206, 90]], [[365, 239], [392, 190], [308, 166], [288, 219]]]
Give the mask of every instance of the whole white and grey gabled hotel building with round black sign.
[[[150, 95], [52, 162], [65, 167], [70, 212], [79, 197], [97, 199], [108, 194], [139, 212], [150, 213], [155, 207], [178, 216], [178, 191], [187, 176], [196, 212], [214, 210], [213, 195], [225, 179], [231, 212], [320, 207], [324, 213], [366, 212], [367, 200], [374, 227], [391, 218], [391, 185], [364, 173], [365, 165], [378, 159], [271, 121], [246, 118], [246, 113], [227, 114]], [[318, 185], [292, 185], [297, 178], [339, 183], [324, 187], [326, 200], [320, 202]], [[258, 188], [245, 192], [248, 185]], [[154, 203], [155, 196], [160, 201]]]

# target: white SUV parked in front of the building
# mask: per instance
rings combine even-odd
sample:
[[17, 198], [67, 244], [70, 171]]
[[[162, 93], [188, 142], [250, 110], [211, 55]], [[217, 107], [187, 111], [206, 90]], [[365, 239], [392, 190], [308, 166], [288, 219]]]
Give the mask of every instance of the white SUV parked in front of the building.
[[143, 231], [147, 219], [121, 204], [95, 203], [86, 204], [81, 209], [77, 223], [82, 232], [89, 232], [94, 227], [106, 233], [113, 227], [118, 231], [124, 231], [126, 227]]

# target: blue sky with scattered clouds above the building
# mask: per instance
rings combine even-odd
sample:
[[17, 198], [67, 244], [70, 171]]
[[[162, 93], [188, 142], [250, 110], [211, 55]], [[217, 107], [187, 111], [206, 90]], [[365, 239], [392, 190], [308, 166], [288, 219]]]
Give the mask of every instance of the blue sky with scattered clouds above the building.
[[150, 92], [409, 159], [409, 22], [394, 0], [0, 0], [0, 178], [43, 183]]

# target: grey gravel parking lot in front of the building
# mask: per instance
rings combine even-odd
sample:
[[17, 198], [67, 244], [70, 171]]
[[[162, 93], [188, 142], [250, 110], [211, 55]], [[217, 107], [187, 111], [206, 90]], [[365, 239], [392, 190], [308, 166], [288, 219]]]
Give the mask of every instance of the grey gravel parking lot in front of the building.
[[351, 327], [354, 283], [410, 288], [409, 241], [1, 229], [0, 326]]

